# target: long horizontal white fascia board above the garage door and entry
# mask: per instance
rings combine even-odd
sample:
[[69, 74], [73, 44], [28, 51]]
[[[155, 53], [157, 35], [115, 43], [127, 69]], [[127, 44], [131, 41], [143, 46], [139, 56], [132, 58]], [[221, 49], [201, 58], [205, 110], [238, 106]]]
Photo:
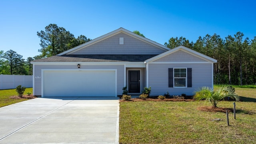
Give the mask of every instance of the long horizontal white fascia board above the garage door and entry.
[[103, 64], [103, 65], [124, 65], [124, 64], [131, 64], [131, 65], [145, 65], [144, 62], [31, 62], [31, 64], [36, 65], [63, 65], [63, 64]]

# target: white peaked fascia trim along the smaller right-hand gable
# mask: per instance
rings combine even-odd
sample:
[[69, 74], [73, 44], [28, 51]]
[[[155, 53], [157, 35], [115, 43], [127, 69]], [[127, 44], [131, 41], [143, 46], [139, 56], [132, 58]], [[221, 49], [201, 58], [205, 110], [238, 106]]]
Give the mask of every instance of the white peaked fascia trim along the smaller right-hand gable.
[[144, 63], [148, 63], [148, 62], [152, 62], [152, 61], [154, 61], [154, 60], [158, 60], [158, 59], [160, 59], [160, 58], [162, 58], [162, 57], [164, 57], [164, 56], [167, 56], [168, 54], [172, 54], [172, 53], [174, 53], [174, 52], [176, 52], [176, 51], [178, 51], [178, 50], [182, 50], [182, 51], [184, 51], [184, 52], [188, 52], [189, 54], [192, 54], [193, 56], [196, 56], [196, 57], [201, 58], [201, 59], [203, 59], [203, 60], [206, 60], [206, 61], [208, 61], [208, 62], [213, 62], [213, 63], [217, 62], [217, 60], [215, 60], [214, 58], [210, 58], [209, 56], [206, 56], [206, 55], [204, 55], [204, 54], [201, 54], [201, 53], [199, 53], [199, 52], [196, 52], [196, 51], [194, 51], [194, 50], [191, 50], [190, 48], [186, 48], [185, 46], [178, 46], [178, 47], [173, 48], [173, 49], [171, 49], [171, 50], [169, 50], [169, 51], [167, 51], [167, 52], [164, 52], [164, 53], [162, 53], [162, 54], [159, 54], [159, 55], [157, 55], [157, 56], [154, 56], [153, 58], [150, 58], [150, 59], [148, 59], [148, 60], [145, 60]]

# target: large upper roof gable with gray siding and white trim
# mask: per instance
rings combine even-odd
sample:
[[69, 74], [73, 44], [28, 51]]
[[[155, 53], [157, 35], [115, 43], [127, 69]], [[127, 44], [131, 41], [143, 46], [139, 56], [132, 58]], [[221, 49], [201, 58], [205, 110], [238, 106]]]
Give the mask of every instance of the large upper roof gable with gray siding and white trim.
[[[124, 38], [124, 44], [119, 44], [119, 38]], [[161, 54], [168, 50], [170, 49], [161, 44], [119, 28], [57, 56], [64, 54]]]

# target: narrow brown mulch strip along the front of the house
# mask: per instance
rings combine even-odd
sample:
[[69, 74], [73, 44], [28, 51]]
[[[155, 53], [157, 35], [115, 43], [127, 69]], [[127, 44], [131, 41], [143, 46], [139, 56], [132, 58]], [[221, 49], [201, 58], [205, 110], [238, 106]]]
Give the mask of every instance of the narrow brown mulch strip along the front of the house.
[[194, 99], [176, 99], [176, 98], [165, 98], [164, 100], [160, 100], [158, 98], [146, 98], [146, 99], [141, 99], [141, 98], [131, 98], [130, 100], [123, 100], [120, 99], [120, 102], [144, 102], [144, 101], [154, 101], [154, 102], [191, 102], [195, 101]]

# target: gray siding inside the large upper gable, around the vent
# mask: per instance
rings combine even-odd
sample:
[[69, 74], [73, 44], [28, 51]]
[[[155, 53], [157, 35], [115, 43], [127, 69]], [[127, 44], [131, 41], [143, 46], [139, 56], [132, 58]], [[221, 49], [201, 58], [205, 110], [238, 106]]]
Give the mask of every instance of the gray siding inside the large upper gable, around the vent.
[[[119, 38], [124, 38], [124, 44], [119, 44]], [[70, 54], [161, 54], [166, 51], [127, 34], [119, 33]]]

